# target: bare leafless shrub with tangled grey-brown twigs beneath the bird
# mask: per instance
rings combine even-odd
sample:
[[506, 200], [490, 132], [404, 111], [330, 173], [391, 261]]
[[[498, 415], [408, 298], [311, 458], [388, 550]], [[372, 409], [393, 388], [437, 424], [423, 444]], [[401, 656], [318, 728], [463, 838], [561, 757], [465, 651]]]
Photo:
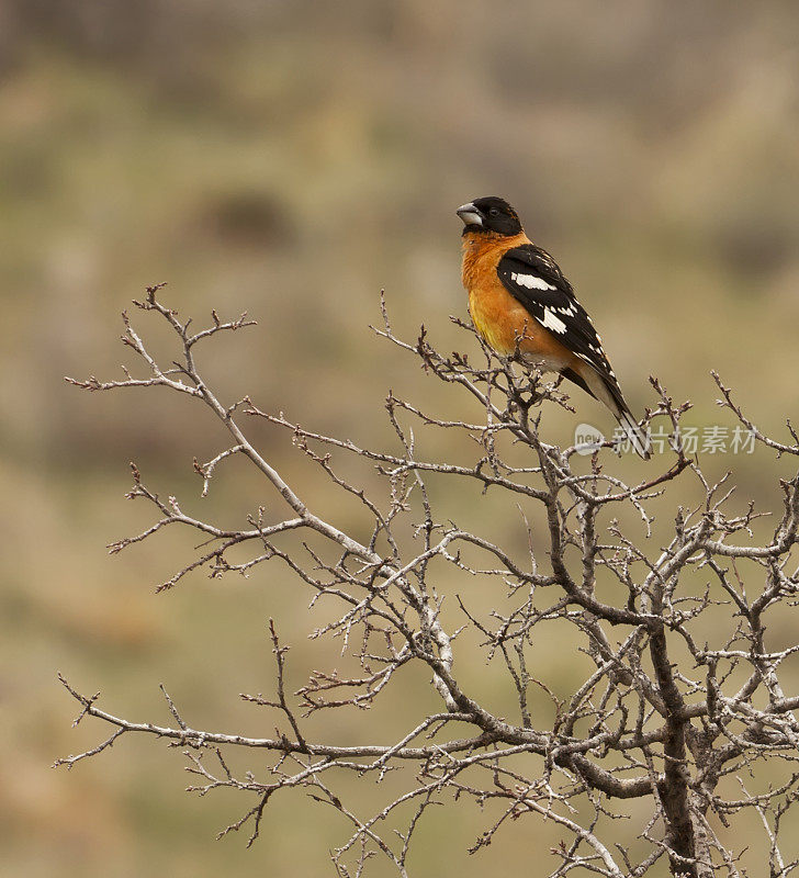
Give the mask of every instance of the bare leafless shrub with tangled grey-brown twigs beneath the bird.
[[[765, 832], [769, 875], [794, 873], [797, 859], [780, 852], [780, 830], [799, 788], [799, 727], [792, 713], [799, 697], [784, 691], [780, 666], [799, 646], [769, 650], [765, 626], [769, 614], [795, 603], [799, 587], [798, 572], [790, 564], [799, 525], [799, 475], [780, 481], [781, 517], [770, 539], [758, 543], [751, 527], [756, 517], [753, 507], [739, 515], [727, 511], [731, 492], [725, 479], [708, 482], [677, 438], [687, 404], [675, 405], [654, 380], [659, 404], [648, 420], [660, 418], [669, 425], [674, 448], [656, 458], [667, 459], [668, 468], [628, 485], [608, 472], [616, 461], [612, 452], [600, 450], [582, 468], [587, 472], [579, 472], [574, 447], [548, 444], [539, 434], [542, 404], [567, 406], [556, 384], [498, 361], [485, 348], [481, 365], [462, 354], [442, 356], [424, 330], [415, 344], [407, 344], [395, 336], [385, 307], [376, 331], [410, 358], [420, 359], [436, 379], [464, 391], [472, 397], [470, 410], [479, 416], [471, 423], [442, 420], [390, 395], [387, 414], [401, 450], [360, 448], [349, 439], [303, 429], [283, 414], [263, 412], [248, 397], [233, 405], [220, 401], [201, 378], [195, 349], [201, 341], [251, 322], [243, 315], [224, 323], [214, 313], [213, 324], [194, 333], [190, 322], [181, 323], [161, 304], [158, 289], [148, 289], [146, 299], [135, 304], [171, 326], [180, 362], [168, 368], [156, 362], [123, 315], [123, 341], [144, 362], [146, 376], [136, 379], [125, 370], [122, 381], [68, 380], [91, 391], [166, 386], [195, 398], [230, 435], [230, 446], [215, 458], [194, 461], [203, 496], [223, 461], [241, 455], [274, 489], [285, 517], [272, 519], [260, 509], [249, 516], [247, 528], [223, 529], [184, 513], [175, 497], [161, 499], [133, 465], [128, 496], [150, 503], [157, 520], [110, 550], [119, 552], [176, 525], [199, 531], [204, 548], [159, 590], [177, 586], [201, 567], [211, 576], [223, 576], [260, 565], [285, 565], [312, 589], [314, 601], [324, 598], [339, 607], [335, 621], [312, 637], [339, 638], [344, 650], [357, 656], [362, 673], [344, 677], [334, 671], [316, 672], [299, 691], [289, 691], [286, 646], [270, 621], [274, 694], [243, 697], [282, 717], [282, 729], [272, 739], [194, 729], [166, 690], [173, 724], [132, 722], [106, 712], [98, 696], [81, 695], [61, 678], [81, 706], [77, 721], [90, 716], [112, 727], [113, 733], [57, 765], [71, 767], [134, 732], [184, 745], [189, 770], [196, 777], [190, 789], [204, 795], [228, 787], [254, 797], [244, 815], [221, 833], [246, 828], [250, 844], [268, 806], [279, 798], [275, 793], [305, 790], [337, 809], [350, 825], [349, 837], [333, 854], [340, 876], [364, 874], [373, 856], [386, 857], [406, 876], [414, 832], [426, 810], [441, 803], [457, 809], [464, 800], [486, 807], [485, 831], [472, 851], [491, 844], [511, 820], [530, 817], [558, 824], [563, 841], [552, 852], [551, 876], [582, 870], [632, 878], [662, 874], [666, 863], [674, 876], [745, 875], [739, 864], [746, 840], [731, 845], [734, 836], [723, 828], [734, 826], [746, 811], [757, 815]], [[475, 347], [474, 338], [469, 340]], [[799, 454], [790, 424], [792, 443], [763, 436], [716, 380], [720, 405], [757, 441], [778, 455]], [[239, 414], [284, 428], [318, 466], [320, 479], [331, 480], [360, 502], [371, 521], [369, 539], [359, 541], [317, 515], [313, 498], [299, 496], [248, 439]], [[414, 423], [468, 435], [479, 459], [466, 464], [423, 459], [416, 450]], [[519, 446], [531, 465], [508, 462]], [[334, 455], [353, 455], [376, 468], [382, 495], [339, 475]], [[650, 466], [654, 470], [656, 462]], [[645, 539], [624, 533], [619, 522], [629, 519], [626, 513], [632, 510], [649, 528], [653, 499], [677, 491], [691, 474], [702, 485], [704, 502], [677, 510], [665, 547], [652, 552]], [[441, 480], [444, 486], [471, 480], [520, 505], [526, 516], [531, 510], [529, 515], [541, 522], [545, 552], [533, 551], [531, 540], [528, 555], [513, 556], [493, 539], [437, 517], [428, 491], [432, 480], [439, 480], [439, 491]], [[289, 531], [300, 531], [307, 541], [294, 540], [286, 548]], [[230, 560], [230, 550], [243, 545], [250, 547], [249, 558]], [[444, 596], [436, 588], [440, 564], [452, 565], [459, 576], [479, 574], [493, 582], [496, 609], [481, 616], [460, 603], [458, 627], [446, 626]], [[604, 600], [598, 578], [615, 582], [626, 600]], [[697, 588], [697, 582], [704, 585]], [[702, 624], [711, 616], [716, 617], [712, 630], [723, 632], [721, 642], [712, 644], [706, 641], [708, 627]], [[582, 642], [593, 669], [569, 698], [559, 699], [545, 680], [536, 678], [528, 654], [542, 627], [564, 622]], [[509, 675], [517, 694], [516, 717], [496, 716], [470, 693], [469, 682], [457, 676], [455, 638], [465, 629], [479, 632], [485, 656], [499, 660]], [[675, 653], [687, 654], [690, 661], [676, 662]], [[307, 714], [367, 709], [391, 690], [400, 668], [410, 663], [429, 671], [438, 710], [413, 716], [408, 709], [407, 728], [369, 745], [307, 738], [303, 731]], [[540, 690], [551, 697], [552, 721], [531, 709], [530, 693]], [[265, 777], [251, 772], [239, 776], [228, 768], [225, 753], [245, 748], [271, 754]], [[770, 770], [765, 775], [770, 783], [759, 783], [772, 764], [780, 773], [779, 783], [774, 783]], [[356, 775], [362, 784], [395, 773], [404, 786], [376, 813], [363, 814], [335, 792], [341, 773]], [[630, 800], [641, 800], [638, 813], [643, 807], [648, 814], [640, 832], [631, 830], [629, 821], [619, 822]], [[404, 829], [392, 832], [392, 821], [400, 820]], [[758, 874], [765, 874], [765, 864]]]

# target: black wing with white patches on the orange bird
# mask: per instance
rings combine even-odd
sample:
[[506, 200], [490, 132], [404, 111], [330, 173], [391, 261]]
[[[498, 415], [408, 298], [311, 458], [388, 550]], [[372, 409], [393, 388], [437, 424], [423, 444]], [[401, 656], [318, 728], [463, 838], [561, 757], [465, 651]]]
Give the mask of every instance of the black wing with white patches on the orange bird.
[[592, 365], [611, 386], [618, 386], [590, 317], [574, 297], [572, 284], [545, 250], [534, 244], [514, 247], [499, 260], [497, 274], [505, 289], [541, 326]]

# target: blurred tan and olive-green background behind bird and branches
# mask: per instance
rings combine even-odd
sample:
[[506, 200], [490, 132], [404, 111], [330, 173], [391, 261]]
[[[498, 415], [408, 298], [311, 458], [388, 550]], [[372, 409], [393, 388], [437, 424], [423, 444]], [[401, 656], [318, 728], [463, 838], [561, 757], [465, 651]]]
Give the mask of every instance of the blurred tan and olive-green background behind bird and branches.
[[[443, 350], [473, 349], [449, 322], [465, 314], [453, 211], [499, 194], [595, 316], [634, 410], [653, 404], [657, 374], [695, 403], [688, 424], [730, 426], [714, 368], [784, 436], [799, 404], [798, 18], [789, 0], [0, 4], [5, 874], [315, 876], [331, 874], [327, 852], [348, 837], [300, 793], [252, 849], [240, 835], [215, 842], [249, 804], [188, 796], [180, 754], [149, 740], [50, 769], [105, 732], [70, 728], [57, 671], [131, 719], [168, 721], [162, 682], [198, 728], [271, 734], [274, 718], [238, 699], [270, 689], [269, 616], [293, 646], [294, 688], [337, 661], [336, 644], [304, 640], [308, 596], [282, 572], [199, 573], [156, 596], [191, 556], [191, 534], [106, 554], [153, 520], [123, 497], [132, 459], [155, 489], [216, 520], [238, 525], [274, 502], [237, 461], [200, 500], [191, 459], [225, 440], [191, 406], [65, 384], [122, 376], [130, 300], [168, 281], [165, 301], [196, 320], [248, 311], [258, 327], [201, 352], [223, 398], [248, 393], [303, 426], [385, 442], [389, 387], [447, 416], [474, 410], [370, 331], [380, 289], [400, 334], [413, 340], [424, 323]], [[612, 429], [577, 402], [576, 416], [548, 414], [553, 440], [570, 444], [581, 420]], [[250, 426], [299, 489], [357, 527], [289, 437]], [[427, 441], [448, 453], [447, 436]], [[741, 504], [779, 508], [785, 468], [759, 453], [708, 461], [711, 474], [730, 466]], [[485, 508], [476, 494], [455, 499]], [[516, 509], [494, 514], [524, 547]], [[542, 676], [567, 688], [556, 660], [542, 652]], [[491, 690], [492, 666], [470, 672]], [[424, 709], [427, 680], [403, 686]], [[374, 741], [406, 717], [400, 702], [326, 717], [313, 734]], [[380, 801], [351, 795], [364, 810]], [[514, 826], [469, 857], [483, 821], [477, 809], [432, 818], [418, 874], [532, 874], [531, 845], [559, 837]]]

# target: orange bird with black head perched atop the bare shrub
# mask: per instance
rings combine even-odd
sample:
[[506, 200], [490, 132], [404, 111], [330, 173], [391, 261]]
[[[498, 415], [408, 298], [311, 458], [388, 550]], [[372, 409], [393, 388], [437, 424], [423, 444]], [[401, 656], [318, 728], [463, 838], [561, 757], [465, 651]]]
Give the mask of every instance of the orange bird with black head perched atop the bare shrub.
[[503, 199], [475, 199], [463, 221], [463, 285], [480, 335], [500, 356], [517, 350], [542, 371], [560, 372], [604, 403], [649, 459], [649, 442], [621, 394], [601, 338], [554, 259], [525, 235]]

